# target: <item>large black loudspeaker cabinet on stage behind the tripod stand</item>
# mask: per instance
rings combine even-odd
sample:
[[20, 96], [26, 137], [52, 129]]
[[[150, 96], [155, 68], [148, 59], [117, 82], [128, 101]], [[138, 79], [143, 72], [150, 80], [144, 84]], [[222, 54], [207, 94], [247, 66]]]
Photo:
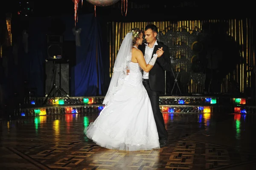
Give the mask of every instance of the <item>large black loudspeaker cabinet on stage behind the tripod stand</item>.
[[[70, 67], [69, 63], [57, 63], [56, 66], [56, 86], [64, 89], [68, 95], [70, 95]], [[53, 82], [54, 82], [54, 75], [53, 75], [53, 62], [47, 61], [45, 63], [45, 94], [49, 94]], [[56, 93], [57, 97], [62, 97], [60, 92]]]

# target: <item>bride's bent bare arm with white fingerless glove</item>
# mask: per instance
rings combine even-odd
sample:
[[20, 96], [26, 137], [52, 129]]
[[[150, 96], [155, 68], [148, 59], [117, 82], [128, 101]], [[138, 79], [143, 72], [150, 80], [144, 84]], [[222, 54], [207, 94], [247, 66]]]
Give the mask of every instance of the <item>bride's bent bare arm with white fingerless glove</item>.
[[154, 57], [147, 64], [146, 61], [145, 61], [144, 55], [140, 50], [138, 50], [135, 55], [136, 55], [135, 56], [136, 60], [138, 61], [138, 63], [140, 64], [141, 69], [143, 69], [144, 72], [149, 72], [153, 68], [154, 63], [157, 60], [157, 55], [154, 54]]

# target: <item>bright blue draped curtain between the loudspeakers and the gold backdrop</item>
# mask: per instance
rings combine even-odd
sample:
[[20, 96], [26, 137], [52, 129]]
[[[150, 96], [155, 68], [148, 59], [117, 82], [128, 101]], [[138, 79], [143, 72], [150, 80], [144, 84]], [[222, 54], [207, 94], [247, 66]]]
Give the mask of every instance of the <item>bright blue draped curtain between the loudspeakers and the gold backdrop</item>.
[[[73, 17], [66, 20], [65, 40], [75, 40], [72, 32], [74, 22]], [[76, 29], [79, 28], [81, 28], [81, 46], [76, 47], [76, 66], [72, 68], [71, 73], [74, 77], [71, 94], [73, 96], [105, 95], [106, 85], [108, 86], [109, 83], [106, 23], [102, 18], [94, 17], [94, 14], [79, 15]]]

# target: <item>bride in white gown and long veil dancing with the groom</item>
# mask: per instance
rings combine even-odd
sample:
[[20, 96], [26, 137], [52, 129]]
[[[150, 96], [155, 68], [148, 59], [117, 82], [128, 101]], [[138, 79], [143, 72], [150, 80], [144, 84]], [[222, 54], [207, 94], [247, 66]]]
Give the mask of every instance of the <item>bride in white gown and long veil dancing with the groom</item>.
[[[113, 150], [159, 149], [159, 138], [148, 93], [142, 84], [142, 70], [149, 72], [161, 50], [146, 64], [143, 31], [131, 29], [116, 56], [114, 72], [105, 96], [104, 109], [84, 133], [97, 145]], [[130, 70], [127, 75], [127, 69]]]

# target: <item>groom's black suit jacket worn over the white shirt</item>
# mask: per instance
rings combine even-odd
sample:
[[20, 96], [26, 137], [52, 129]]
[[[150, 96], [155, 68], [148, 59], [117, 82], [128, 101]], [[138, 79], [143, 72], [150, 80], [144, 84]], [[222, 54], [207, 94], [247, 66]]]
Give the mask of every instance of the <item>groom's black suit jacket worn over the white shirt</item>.
[[[154, 46], [154, 51], [152, 53], [151, 58], [157, 52], [158, 48], [163, 47], [163, 55], [160, 58], [157, 58], [156, 63], [153, 68], [149, 71], [148, 81], [152, 91], [156, 92], [164, 92], [165, 81], [164, 81], [164, 70], [171, 71], [171, 59], [168, 46], [163, 43], [157, 41], [156, 46]], [[145, 43], [139, 46], [139, 49], [143, 52], [145, 56]]]

